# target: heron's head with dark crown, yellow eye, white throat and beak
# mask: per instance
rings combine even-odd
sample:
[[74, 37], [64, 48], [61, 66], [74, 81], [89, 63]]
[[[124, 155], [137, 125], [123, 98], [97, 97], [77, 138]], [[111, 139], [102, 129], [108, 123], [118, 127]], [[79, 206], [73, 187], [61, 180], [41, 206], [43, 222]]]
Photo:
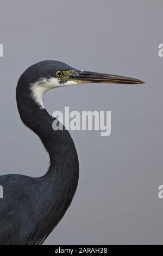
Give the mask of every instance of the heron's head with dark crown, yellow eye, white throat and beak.
[[[141, 80], [126, 76], [83, 71], [55, 60], [44, 60], [30, 66], [20, 80], [26, 80], [30, 93], [40, 108], [42, 96], [47, 90], [84, 83], [143, 84]], [[19, 80], [19, 81], [20, 81]]]

